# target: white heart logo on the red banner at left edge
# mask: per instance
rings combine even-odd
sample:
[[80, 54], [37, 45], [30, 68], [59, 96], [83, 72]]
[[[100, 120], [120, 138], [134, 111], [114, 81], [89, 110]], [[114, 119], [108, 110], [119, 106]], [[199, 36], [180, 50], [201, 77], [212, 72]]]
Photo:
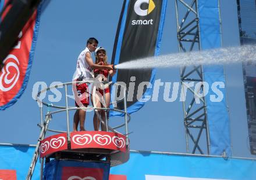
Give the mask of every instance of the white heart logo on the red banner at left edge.
[[[5, 63], [5, 61], [8, 60], [9, 58], [12, 58], [16, 62], [15, 63], [9, 62], [5, 65], [5, 67], [2, 68], [2, 74], [0, 76], [0, 90], [2, 90], [2, 91], [9, 91], [10, 89], [12, 89], [13, 86], [16, 85], [17, 80], [19, 79], [19, 76], [20, 76], [20, 70], [19, 70], [19, 67], [18, 67], [19, 60], [16, 56], [14, 56], [13, 54], [9, 54], [5, 58], [5, 60], [3, 60], [3, 63]], [[16, 72], [15, 73], [10, 72], [9, 71], [10, 67], [15, 68]], [[12, 74], [13, 74], [12, 78], [8, 79], [8, 76], [12, 75]], [[8, 86], [8, 87], [6, 87], [6, 86]]]

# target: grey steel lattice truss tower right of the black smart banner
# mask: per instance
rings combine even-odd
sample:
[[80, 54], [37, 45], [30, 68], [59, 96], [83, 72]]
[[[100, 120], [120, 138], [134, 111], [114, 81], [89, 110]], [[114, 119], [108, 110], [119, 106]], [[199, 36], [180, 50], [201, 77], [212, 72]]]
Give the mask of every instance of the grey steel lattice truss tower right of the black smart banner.
[[[175, 0], [176, 20], [177, 20], [177, 41], [179, 52], [187, 52], [193, 50], [201, 50], [200, 44], [200, 27], [198, 16], [198, 0]], [[182, 19], [180, 19], [182, 17]], [[198, 46], [195, 46], [195, 43]], [[198, 49], [195, 49], [198, 48]], [[209, 155], [209, 131], [207, 121], [207, 109], [204, 97], [199, 98], [200, 104], [194, 103], [198, 92], [191, 87], [187, 87], [190, 82], [203, 82], [202, 66], [200, 67], [182, 67], [180, 69], [180, 81], [182, 83], [182, 98], [183, 98], [183, 115], [184, 126], [186, 133], [186, 148], [187, 153], [201, 153], [202, 149], [207, 150]], [[203, 90], [203, 86], [199, 91]], [[187, 91], [189, 89], [189, 91]], [[190, 94], [187, 94], [190, 93]], [[185, 94], [186, 93], [186, 94]], [[186, 97], [186, 98], [185, 98]], [[193, 109], [193, 110], [191, 110]], [[191, 112], [190, 112], [191, 110]], [[203, 131], [205, 130], [206, 143], [200, 141]], [[196, 140], [195, 140], [196, 139]], [[190, 152], [190, 144], [193, 145], [193, 150]], [[201, 148], [205, 146], [205, 148]]]

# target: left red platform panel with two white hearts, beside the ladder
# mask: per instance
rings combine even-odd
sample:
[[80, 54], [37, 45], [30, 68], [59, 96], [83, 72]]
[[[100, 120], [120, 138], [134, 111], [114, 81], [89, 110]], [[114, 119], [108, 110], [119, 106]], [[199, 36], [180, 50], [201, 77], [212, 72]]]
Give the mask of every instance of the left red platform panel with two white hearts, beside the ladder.
[[57, 134], [45, 138], [40, 144], [40, 157], [67, 149], [67, 134]]

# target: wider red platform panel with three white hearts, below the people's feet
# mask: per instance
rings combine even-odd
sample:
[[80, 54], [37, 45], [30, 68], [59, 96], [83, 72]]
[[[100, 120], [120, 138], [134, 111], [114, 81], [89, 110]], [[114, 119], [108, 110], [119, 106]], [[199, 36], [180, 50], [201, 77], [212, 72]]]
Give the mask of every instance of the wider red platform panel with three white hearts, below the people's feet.
[[71, 148], [102, 148], [126, 152], [125, 135], [105, 131], [80, 131], [70, 134]]

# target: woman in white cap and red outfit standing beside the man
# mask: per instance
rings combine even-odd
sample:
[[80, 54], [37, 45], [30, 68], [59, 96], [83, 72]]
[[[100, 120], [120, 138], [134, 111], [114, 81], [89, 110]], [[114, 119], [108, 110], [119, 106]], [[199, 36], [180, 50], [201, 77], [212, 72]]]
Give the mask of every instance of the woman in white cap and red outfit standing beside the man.
[[[107, 63], [107, 56], [106, 56], [106, 50], [103, 47], [98, 47], [95, 50], [95, 64], [99, 65], [108, 65]], [[94, 69], [94, 77], [103, 77], [103, 79], [100, 79], [102, 81], [107, 82], [108, 81], [108, 75], [113, 76], [115, 75], [115, 70], [107, 70], [107, 69]], [[94, 105], [95, 108], [109, 108], [110, 103], [110, 90], [108, 86], [103, 87], [103, 84], [101, 83], [102, 87], [98, 87], [95, 91], [95, 93], [92, 93], [91, 102]], [[105, 91], [105, 101], [104, 101], [104, 91]], [[99, 130], [99, 124], [101, 124], [101, 130], [106, 131], [106, 127], [100, 123], [100, 120], [98, 119], [98, 115], [101, 117], [102, 120], [106, 120], [106, 114], [105, 111], [102, 110], [95, 110], [94, 111], [94, 117], [93, 117], [93, 125], [94, 130]]]

